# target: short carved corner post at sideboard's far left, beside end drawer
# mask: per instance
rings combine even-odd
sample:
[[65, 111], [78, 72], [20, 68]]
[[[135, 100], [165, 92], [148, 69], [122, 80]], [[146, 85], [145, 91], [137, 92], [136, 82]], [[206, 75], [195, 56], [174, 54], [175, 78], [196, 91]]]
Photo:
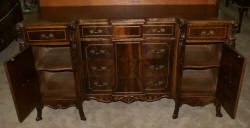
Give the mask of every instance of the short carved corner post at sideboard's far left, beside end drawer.
[[28, 44], [26, 43], [25, 39], [25, 29], [24, 25], [22, 23], [16, 24], [16, 41], [19, 43], [19, 50], [22, 51], [28, 47]]

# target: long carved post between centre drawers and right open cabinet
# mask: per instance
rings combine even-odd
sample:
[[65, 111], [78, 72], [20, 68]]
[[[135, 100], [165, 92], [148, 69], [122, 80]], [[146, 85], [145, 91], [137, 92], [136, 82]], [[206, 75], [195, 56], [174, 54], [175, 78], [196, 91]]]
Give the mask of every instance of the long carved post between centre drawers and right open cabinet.
[[177, 119], [179, 114], [179, 108], [182, 105], [181, 102], [181, 83], [182, 83], [182, 73], [185, 55], [185, 36], [186, 36], [186, 24], [183, 19], [178, 19], [178, 24], [180, 27], [180, 37], [178, 46], [178, 59], [177, 59], [177, 87], [176, 87], [176, 98], [175, 98], [175, 109], [172, 118]]

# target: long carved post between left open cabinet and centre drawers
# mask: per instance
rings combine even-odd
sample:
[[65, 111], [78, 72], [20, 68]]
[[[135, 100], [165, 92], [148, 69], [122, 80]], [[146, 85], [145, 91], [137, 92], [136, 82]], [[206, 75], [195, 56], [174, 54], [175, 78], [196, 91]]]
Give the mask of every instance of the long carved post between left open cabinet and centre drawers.
[[80, 31], [77, 23], [71, 24], [69, 26], [70, 34], [70, 47], [71, 47], [71, 58], [72, 66], [74, 70], [74, 78], [76, 83], [76, 108], [79, 111], [81, 120], [86, 120], [85, 114], [83, 112], [83, 88], [82, 88], [82, 61], [81, 61], [81, 45], [80, 45]]

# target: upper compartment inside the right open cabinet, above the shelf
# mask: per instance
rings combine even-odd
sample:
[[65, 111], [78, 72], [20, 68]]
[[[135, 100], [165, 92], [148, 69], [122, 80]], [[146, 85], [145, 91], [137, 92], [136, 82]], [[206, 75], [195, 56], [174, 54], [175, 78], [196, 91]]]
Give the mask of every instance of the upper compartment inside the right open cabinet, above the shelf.
[[218, 68], [221, 44], [186, 45], [184, 69]]

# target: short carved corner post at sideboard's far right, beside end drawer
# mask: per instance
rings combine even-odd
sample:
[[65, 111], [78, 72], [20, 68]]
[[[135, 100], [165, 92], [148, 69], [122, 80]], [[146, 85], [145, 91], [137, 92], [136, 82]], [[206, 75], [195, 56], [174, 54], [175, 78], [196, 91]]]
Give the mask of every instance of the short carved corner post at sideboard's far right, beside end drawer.
[[238, 32], [238, 27], [239, 27], [238, 24], [236, 24], [235, 22], [233, 22], [232, 25], [231, 25], [231, 31], [230, 31], [230, 34], [229, 34], [227, 44], [229, 46], [231, 46], [232, 48], [235, 48], [235, 41], [236, 41], [235, 35]]

